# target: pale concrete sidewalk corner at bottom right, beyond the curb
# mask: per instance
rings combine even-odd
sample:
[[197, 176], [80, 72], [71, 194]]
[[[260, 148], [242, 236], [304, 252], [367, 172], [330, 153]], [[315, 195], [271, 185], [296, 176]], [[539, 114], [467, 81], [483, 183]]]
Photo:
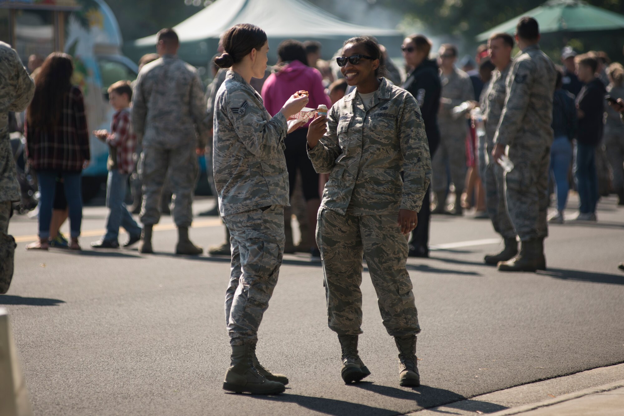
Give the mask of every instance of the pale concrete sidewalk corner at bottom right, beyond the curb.
[[514, 407], [491, 416], [622, 416], [624, 380], [566, 394], [544, 402]]

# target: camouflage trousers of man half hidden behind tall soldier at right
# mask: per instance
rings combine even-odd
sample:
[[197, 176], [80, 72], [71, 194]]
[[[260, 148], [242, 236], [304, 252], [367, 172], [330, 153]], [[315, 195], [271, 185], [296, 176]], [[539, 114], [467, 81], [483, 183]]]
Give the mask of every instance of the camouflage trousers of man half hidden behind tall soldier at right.
[[482, 184], [485, 188], [485, 207], [492, 220], [494, 230], [504, 239], [515, 239], [512, 224], [505, 205], [505, 171], [499, 164], [492, 161], [490, 149], [485, 151], [485, 167], [482, 169]]

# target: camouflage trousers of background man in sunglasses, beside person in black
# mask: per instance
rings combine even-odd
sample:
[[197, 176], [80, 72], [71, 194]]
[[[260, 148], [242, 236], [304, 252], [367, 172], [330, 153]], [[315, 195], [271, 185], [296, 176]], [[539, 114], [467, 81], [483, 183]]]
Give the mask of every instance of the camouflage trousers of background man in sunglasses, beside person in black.
[[[459, 196], [466, 184], [466, 129], [440, 136], [439, 147], [431, 161], [432, 189], [434, 192], [446, 192], [450, 181], [455, 185], [455, 192]], [[447, 178], [447, 165], [450, 178]]]

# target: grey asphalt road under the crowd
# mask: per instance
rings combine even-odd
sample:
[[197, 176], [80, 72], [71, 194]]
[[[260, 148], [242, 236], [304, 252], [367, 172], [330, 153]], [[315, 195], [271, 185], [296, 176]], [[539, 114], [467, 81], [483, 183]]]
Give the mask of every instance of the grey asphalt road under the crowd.
[[[286, 255], [258, 345], [261, 362], [290, 377], [277, 397], [221, 389], [228, 259], [175, 257], [169, 217], [155, 232], [158, 254], [94, 252], [87, 247], [105, 214], [85, 209], [80, 253], [26, 252], [36, 221], [11, 222], [16, 272], [0, 305], [11, 313], [37, 415], [396, 415], [624, 362], [624, 274], [616, 268], [624, 209], [613, 198], [600, 204], [597, 224], [551, 227], [548, 271], [538, 274], [482, 264], [499, 249], [487, 220], [434, 216], [439, 250], [408, 260], [422, 327], [418, 389], [398, 385], [396, 347], [366, 269], [359, 350], [372, 375], [343, 384], [320, 265]], [[198, 217], [191, 235], [207, 246], [223, 229]]]

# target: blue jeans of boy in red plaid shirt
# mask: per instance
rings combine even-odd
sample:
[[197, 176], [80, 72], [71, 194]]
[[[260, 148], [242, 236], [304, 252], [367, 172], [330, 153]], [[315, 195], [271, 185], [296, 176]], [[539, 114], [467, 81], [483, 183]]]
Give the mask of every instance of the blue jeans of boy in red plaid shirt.
[[141, 227], [132, 218], [132, 214], [128, 212], [124, 204], [128, 176], [128, 174], [122, 174], [117, 169], [109, 171], [109, 177], [106, 181], [106, 206], [109, 208], [109, 217], [106, 220], [104, 241], [117, 243], [120, 225], [132, 237], [141, 234]]

